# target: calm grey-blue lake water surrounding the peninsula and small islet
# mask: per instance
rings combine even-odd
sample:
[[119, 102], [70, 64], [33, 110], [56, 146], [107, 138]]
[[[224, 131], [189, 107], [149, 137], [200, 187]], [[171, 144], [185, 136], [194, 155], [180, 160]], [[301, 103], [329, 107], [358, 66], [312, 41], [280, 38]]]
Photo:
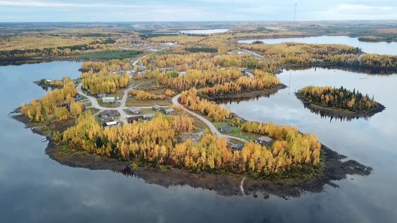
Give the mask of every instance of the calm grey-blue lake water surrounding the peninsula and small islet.
[[[284, 200], [222, 197], [190, 186], [165, 188], [111, 171], [71, 168], [44, 153], [42, 136], [10, 118], [11, 110], [40, 98], [41, 78], [77, 77], [78, 62], [0, 67], [0, 222], [395, 222], [397, 214], [396, 75], [375, 76], [339, 70], [291, 72], [291, 94], [232, 103], [244, 118], [292, 124], [316, 133], [331, 149], [374, 168], [370, 176], [338, 181], [339, 188]], [[289, 72], [280, 75], [289, 85]], [[366, 79], [364, 79], [366, 78]], [[344, 85], [386, 106], [370, 120], [331, 121], [305, 109], [293, 91], [306, 84]]]

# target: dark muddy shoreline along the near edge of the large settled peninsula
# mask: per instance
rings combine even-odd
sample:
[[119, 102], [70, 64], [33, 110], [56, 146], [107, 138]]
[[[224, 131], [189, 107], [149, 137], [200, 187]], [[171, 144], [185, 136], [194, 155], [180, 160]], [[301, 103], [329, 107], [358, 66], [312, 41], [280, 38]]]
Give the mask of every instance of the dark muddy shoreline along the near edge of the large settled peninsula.
[[[17, 110], [13, 113], [17, 113]], [[24, 123], [27, 128], [35, 126], [21, 114], [12, 115], [11, 117]], [[304, 179], [254, 179], [238, 174], [210, 174], [207, 172], [195, 174], [177, 168], [170, 168], [166, 171], [154, 167], [131, 168], [128, 162], [115, 158], [96, 154], [62, 153], [60, 152], [61, 148], [53, 145], [51, 136], [45, 135], [38, 128], [32, 131], [47, 138], [48, 145], [45, 153], [52, 160], [62, 165], [90, 170], [110, 170], [126, 176], [141, 178], [146, 183], [157, 184], [167, 188], [170, 186], [188, 185], [193, 188], [209, 189], [214, 190], [221, 196], [241, 196], [243, 194], [256, 196], [261, 193], [264, 198], [268, 198], [269, 195], [275, 195], [288, 199], [289, 197], [299, 197], [306, 193], [320, 193], [324, 191], [327, 184], [337, 187], [337, 184], [332, 181], [346, 179], [348, 175], [367, 176], [373, 171], [371, 167], [364, 166], [356, 161], [342, 161], [346, 156], [336, 153], [325, 145], [321, 147], [322, 167], [315, 171], [313, 176]], [[241, 185], [243, 191], [241, 190]]]

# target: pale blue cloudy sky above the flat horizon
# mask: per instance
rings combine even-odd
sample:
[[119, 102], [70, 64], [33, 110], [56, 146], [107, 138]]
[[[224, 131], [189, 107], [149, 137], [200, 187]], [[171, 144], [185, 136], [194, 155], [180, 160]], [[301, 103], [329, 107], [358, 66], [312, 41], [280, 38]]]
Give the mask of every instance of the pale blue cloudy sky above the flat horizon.
[[397, 20], [397, 0], [0, 0], [0, 22]]

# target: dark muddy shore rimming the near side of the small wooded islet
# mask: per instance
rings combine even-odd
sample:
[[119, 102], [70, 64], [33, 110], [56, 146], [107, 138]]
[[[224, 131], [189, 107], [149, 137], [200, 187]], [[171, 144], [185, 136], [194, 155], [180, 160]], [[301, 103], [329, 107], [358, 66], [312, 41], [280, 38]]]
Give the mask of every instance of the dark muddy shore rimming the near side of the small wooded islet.
[[338, 109], [333, 109], [333, 108], [327, 108], [323, 107], [314, 103], [310, 103], [300, 97], [298, 95], [298, 92], [295, 92], [296, 98], [298, 98], [302, 104], [304, 105], [305, 108], [308, 108], [310, 110], [318, 111], [318, 112], [324, 112], [325, 115], [329, 117], [334, 117], [334, 118], [365, 118], [365, 117], [371, 117], [379, 112], [382, 112], [383, 110], [386, 109], [386, 107], [380, 103], [377, 102], [378, 108], [368, 111], [368, 112], [353, 112], [353, 111], [347, 111], [347, 110], [338, 110]]

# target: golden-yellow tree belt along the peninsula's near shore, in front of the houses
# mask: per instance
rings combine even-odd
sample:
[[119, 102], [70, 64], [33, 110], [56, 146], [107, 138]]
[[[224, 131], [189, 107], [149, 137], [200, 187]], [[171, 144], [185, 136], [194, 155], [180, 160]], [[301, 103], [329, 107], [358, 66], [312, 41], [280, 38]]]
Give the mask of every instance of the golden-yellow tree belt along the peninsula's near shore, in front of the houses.
[[[151, 121], [134, 122], [103, 129], [91, 113], [85, 112], [55, 142], [68, 148], [121, 158], [126, 161], [171, 165], [193, 172], [248, 173], [253, 177], [282, 174], [302, 165], [318, 165], [320, 143], [315, 135], [301, 135], [284, 126], [269, 125], [267, 132], [279, 134], [272, 147], [252, 142], [241, 151], [232, 151], [224, 138], [208, 131], [198, 143], [190, 139], [176, 143], [181, 131], [192, 129], [187, 116], [173, 118], [158, 113]], [[184, 126], [182, 126], [184, 125]]]

